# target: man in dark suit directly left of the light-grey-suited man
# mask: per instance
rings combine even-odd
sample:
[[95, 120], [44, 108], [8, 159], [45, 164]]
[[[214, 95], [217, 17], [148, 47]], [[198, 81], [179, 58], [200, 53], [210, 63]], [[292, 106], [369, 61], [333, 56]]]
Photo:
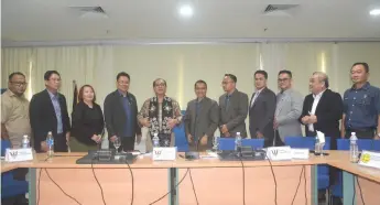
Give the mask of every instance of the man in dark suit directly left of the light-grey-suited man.
[[273, 118], [275, 111], [275, 94], [267, 87], [268, 73], [254, 73], [256, 93], [249, 107], [249, 130], [251, 138], [264, 138], [264, 147], [273, 144]]

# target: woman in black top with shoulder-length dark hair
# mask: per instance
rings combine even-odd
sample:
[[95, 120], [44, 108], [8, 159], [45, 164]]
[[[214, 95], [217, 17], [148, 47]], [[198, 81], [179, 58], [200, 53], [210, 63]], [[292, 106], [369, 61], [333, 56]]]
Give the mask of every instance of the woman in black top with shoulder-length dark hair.
[[101, 142], [105, 121], [100, 106], [95, 102], [93, 86], [82, 86], [78, 99], [72, 117], [70, 149], [73, 152], [97, 150]]

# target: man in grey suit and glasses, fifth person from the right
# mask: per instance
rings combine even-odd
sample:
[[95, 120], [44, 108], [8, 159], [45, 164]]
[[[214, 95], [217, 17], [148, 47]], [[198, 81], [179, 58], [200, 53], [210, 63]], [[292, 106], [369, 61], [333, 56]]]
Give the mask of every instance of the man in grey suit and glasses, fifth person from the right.
[[219, 128], [221, 137], [236, 137], [240, 132], [247, 138], [246, 118], [248, 114], [248, 96], [236, 88], [237, 77], [226, 74], [222, 79], [222, 89], [226, 91], [219, 97]]

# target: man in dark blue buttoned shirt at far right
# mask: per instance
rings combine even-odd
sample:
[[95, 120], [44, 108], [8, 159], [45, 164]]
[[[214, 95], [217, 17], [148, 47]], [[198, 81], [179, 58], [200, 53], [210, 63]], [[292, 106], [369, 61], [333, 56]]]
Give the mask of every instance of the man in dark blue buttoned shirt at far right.
[[368, 82], [367, 63], [351, 68], [354, 86], [345, 91], [341, 138], [356, 132], [359, 139], [380, 139], [380, 89]]

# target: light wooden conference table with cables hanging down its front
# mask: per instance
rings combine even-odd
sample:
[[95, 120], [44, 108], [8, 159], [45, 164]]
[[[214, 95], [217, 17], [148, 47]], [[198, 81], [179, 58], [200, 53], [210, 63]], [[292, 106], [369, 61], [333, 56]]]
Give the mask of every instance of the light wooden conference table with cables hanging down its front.
[[317, 205], [317, 165], [328, 164], [344, 171], [345, 204], [351, 205], [352, 198], [354, 204], [361, 204], [361, 196], [367, 205], [380, 202], [380, 170], [350, 163], [347, 151], [328, 153], [311, 154], [308, 160], [242, 163], [180, 157], [175, 161], [152, 161], [150, 155], [139, 155], [130, 166], [76, 164], [85, 153], [56, 153], [48, 161], [46, 154], [39, 153], [33, 161], [2, 161], [1, 172], [30, 169], [32, 205], [119, 205], [131, 204], [132, 199], [135, 205]]

